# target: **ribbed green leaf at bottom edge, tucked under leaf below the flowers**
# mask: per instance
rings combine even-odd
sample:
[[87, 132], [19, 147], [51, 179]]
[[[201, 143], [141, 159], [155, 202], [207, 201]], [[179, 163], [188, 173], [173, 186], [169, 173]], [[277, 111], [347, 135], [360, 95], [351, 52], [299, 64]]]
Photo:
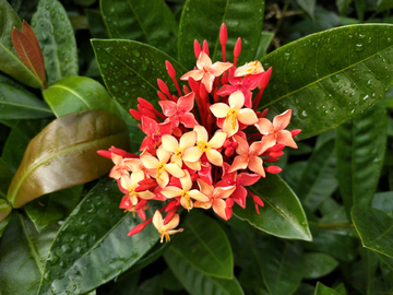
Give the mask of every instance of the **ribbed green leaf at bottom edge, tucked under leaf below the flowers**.
[[192, 295], [241, 295], [245, 294], [236, 278], [219, 279], [194, 269], [174, 247], [164, 253], [165, 261], [184, 288]]

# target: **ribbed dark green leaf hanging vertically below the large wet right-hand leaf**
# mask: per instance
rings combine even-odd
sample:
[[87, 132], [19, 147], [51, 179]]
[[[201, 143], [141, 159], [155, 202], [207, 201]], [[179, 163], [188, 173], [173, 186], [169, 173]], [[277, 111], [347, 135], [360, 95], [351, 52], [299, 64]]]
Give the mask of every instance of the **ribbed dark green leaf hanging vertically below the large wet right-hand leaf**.
[[340, 191], [349, 216], [354, 204], [370, 205], [383, 166], [386, 146], [383, 102], [336, 129]]

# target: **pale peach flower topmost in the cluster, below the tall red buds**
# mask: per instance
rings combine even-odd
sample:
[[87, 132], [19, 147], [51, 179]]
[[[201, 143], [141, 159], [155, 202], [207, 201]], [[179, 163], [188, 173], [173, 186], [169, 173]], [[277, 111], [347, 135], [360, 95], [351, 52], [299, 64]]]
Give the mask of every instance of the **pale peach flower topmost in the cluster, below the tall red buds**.
[[230, 62], [216, 61], [212, 64], [211, 58], [204, 51], [201, 51], [196, 60], [198, 70], [191, 70], [184, 73], [180, 76], [180, 80], [188, 80], [189, 76], [192, 76], [195, 81], [201, 80], [202, 84], [206, 87], [206, 91], [211, 93], [214, 79], [222, 75], [230, 67], [233, 67], [233, 63]]

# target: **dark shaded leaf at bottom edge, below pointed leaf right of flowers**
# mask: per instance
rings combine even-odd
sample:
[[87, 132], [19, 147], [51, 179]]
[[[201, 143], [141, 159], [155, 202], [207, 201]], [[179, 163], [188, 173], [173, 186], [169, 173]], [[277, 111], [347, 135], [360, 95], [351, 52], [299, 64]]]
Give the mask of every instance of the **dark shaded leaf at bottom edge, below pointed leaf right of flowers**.
[[289, 295], [298, 288], [302, 278], [302, 248], [298, 243], [259, 239], [253, 251], [269, 294]]

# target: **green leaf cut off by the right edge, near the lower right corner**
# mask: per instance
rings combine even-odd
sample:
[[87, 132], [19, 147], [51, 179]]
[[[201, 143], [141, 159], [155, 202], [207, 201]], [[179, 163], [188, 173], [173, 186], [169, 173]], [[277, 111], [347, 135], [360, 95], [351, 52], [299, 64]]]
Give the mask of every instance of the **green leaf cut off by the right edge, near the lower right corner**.
[[361, 244], [373, 251], [393, 257], [393, 219], [373, 208], [354, 205], [350, 211]]

